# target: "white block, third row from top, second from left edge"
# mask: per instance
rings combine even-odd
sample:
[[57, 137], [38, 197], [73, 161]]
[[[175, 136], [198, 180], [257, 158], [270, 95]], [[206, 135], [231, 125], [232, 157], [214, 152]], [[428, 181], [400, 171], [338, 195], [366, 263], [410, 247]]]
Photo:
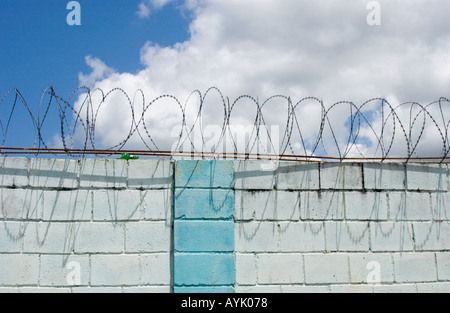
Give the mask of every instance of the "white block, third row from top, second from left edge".
[[24, 253], [72, 253], [77, 234], [75, 223], [35, 223], [26, 225], [23, 238]]

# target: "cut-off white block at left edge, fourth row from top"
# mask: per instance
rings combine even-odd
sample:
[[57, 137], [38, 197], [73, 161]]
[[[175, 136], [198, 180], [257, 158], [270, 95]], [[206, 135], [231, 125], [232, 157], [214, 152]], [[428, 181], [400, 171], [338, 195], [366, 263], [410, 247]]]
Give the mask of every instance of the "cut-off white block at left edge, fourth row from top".
[[37, 285], [39, 255], [0, 254], [0, 286]]

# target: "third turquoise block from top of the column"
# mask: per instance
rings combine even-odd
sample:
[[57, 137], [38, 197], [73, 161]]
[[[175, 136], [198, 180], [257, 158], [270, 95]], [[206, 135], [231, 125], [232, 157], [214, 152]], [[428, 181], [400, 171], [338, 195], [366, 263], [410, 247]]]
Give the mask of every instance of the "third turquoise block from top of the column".
[[233, 221], [181, 221], [174, 223], [174, 250], [180, 252], [233, 252]]

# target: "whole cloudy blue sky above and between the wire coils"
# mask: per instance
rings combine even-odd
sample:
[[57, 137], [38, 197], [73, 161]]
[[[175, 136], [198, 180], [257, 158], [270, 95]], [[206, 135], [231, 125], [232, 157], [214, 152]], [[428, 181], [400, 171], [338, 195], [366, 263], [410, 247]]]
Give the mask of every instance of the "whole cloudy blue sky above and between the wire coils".
[[[448, 1], [379, 0], [374, 12], [371, 0], [80, 0], [80, 26], [67, 25], [66, 0], [0, 1], [0, 94], [18, 88], [34, 113], [45, 88], [53, 86], [67, 98], [82, 83], [104, 92], [119, 87], [131, 98], [142, 90], [145, 104], [163, 94], [184, 103], [192, 91], [212, 86], [231, 101], [251, 95], [262, 102], [282, 94], [293, 103], [316, 97], [326, 107], [342, 100], [358, 106], [386, 98], [395, 105], [450, 97]], [[374, 14], [380, 25], [368, 21]], [[82, 108], [83, 99], [77, 94], [71, 104]], [[218, 99], [217, 94], [208, 96], [204, 125], [221, 125]], [[0, 111], [3, 128], [13, 99], [7, 100]], [[102, 99], [92, 100], [93, 108], [99, 108]], [[272, 109], [265, 112], [265, 120], [283, 128], [286, 103], [267, 108]], [[97, 147], [114, 146], [127, 135], [129, 109], [117, 93], [102, 104]], [[186, 112], [188, 123], [196, 112]], [[254, 112], [254, 104], [241, 101], [230, 123], [251, 125]], [[302, 133], [314, 141], [320, 108], [302, 106], [297, 113], [303, 117]], [[444, 113], [437, 120], [449, 120], [450, 110]], [[398, 116], [408, 124], [407, 110]], [[143, 121], [152, 126], [152, 139], [167, 150], [178, 138], [174, 129], [179, 118], [179, 106], [158, 102]], [[348, 108], [341, 106], [330, 117], [344, 143], [348, 118]], [[15, 131], [8, 133], [5, 145], [33, 146], [32, 125], [26, 119], [25, 109], [17, 108], [9, 124]], [[46, 125], [45, 139], [57, 145], [56, 110], [49, 112]], [[372, 127], [380, 131], [380, 121]], [[447, 125], [440, 127], [445, 133]], [[424, 151], [432, 146], [439, 153], [439, 134], [432, 129], [429, 134]], [[144, 148], [139, 138], [130, 141]], [[376, 146], [367, 143], [360, 148]]]

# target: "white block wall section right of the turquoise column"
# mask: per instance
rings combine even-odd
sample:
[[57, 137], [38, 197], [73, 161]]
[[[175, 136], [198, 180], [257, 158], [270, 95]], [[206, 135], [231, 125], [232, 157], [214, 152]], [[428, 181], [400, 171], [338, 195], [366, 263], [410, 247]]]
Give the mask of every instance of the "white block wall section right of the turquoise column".
[[447, 165], [235, 163], [237, 292], [450, 292]]

